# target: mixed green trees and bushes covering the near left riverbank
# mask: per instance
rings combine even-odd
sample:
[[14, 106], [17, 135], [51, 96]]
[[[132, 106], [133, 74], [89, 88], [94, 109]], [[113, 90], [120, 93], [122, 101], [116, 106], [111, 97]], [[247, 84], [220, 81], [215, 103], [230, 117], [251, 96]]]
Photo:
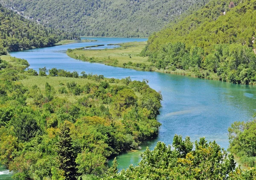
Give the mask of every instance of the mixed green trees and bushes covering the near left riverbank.
[[0, 60], [0, 164], [14, 177], [102, 176], [108, 157], [157, 136], [162, 96], [146, 81], [28, 67]]

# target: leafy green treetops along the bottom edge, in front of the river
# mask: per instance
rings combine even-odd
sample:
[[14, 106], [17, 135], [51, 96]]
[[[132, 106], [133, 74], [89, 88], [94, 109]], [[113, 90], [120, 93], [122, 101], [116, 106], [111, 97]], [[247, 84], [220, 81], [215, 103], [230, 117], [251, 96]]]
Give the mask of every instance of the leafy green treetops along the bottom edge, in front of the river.
[[182, 140], [181, 136], [174, 136], [172, 146], [166, 147], [158, 142], [153, 151], [148, 148], [141, 155], [138, 166], [131, 165], [126, 171], [115, 171], [113, 163], [111, 173], [104, 179], [150, 179], [150, 180], [254, 180], [256, 170], [241, 171], [236, 168], [234, 157], [221, 149], [216, 142], [209, 142], [204, 138], [193, 143], [189, 137]]

